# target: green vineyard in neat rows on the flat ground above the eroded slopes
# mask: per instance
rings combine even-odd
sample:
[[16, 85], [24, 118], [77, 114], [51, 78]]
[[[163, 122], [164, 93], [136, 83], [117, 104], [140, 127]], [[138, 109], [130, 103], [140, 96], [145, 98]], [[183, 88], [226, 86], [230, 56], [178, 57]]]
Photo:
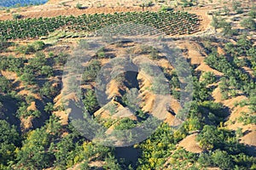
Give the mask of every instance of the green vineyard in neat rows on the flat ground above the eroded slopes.
[[[29, 18], [0, 22], [3, 39], [27, 39], [48, 36], [56, 30], [92, 32], [106, 26], [133, 23], [153, 27], [166, 35], [183, 35], [200, 31], [200, 20], [196, 14], [187, 12], [128, 12], [114, 14], [83, 14], [78, 17], [58, 16], [54, 18]], [[129, 32], [128, 32], [129, 33]]]

